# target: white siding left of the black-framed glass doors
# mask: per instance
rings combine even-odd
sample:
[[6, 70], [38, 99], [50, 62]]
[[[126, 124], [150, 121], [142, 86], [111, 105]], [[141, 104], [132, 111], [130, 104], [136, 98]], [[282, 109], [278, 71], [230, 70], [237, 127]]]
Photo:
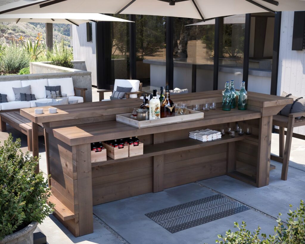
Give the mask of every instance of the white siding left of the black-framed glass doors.
[[96, 45], [95, 45], [95, 23], [92, 23], [92, 41], [87, 41], [86, 23], [80, 26], [73, 25], [73, 58], [84, 60], [87, 70], [91, 71], [92, 85], [97, 85], [96, 79]]

